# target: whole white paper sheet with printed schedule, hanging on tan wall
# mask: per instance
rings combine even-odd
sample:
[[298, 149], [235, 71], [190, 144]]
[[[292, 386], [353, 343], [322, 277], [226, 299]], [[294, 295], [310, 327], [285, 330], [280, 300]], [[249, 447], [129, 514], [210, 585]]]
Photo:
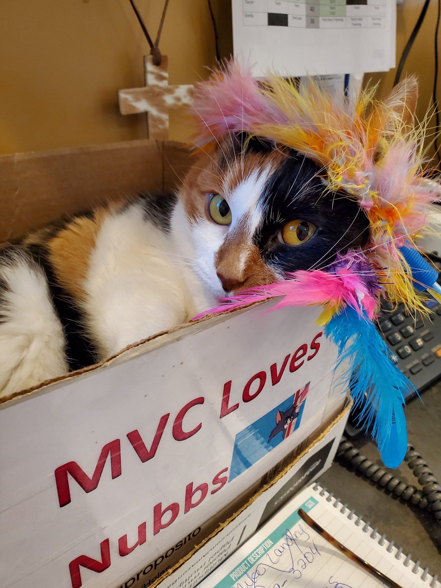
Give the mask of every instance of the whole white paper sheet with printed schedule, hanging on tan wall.
[[395, 0], [232, 0], [234, 55], [281, 75], [395, 66]]

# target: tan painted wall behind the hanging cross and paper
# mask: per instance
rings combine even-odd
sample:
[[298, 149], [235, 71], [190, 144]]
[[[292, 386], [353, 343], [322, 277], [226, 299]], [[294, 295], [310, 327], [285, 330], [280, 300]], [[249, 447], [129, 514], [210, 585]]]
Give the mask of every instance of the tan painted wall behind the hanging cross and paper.
[[[155, 36], [163, 1], [137, 2]], [[232, 45], [230, 1], [212, 5], [226, 55]], [[397, 8], [397, 56], [422, 5], [423, 0], [404, 0]], [[432, 1], [406, 65], [420, 78], [420, 116], [432, 94], [435, 19]], [[161, 48], [169, 55], [171, 83], [206, 76], [205, 66], [215, 64], [207, 0], [170, 0]], [[142, 85], [142, 56], [148, 52], [128, 0], [4, 0], [0, 152], [145, 138], [145, 117], [120, 115], [117, 92]], [[390, 89], [394, 73], [370, 76], [380, 81], [380, 93]], [[172, 112], [171, 138], [186, 139], [188, 131], [182, 113]]]

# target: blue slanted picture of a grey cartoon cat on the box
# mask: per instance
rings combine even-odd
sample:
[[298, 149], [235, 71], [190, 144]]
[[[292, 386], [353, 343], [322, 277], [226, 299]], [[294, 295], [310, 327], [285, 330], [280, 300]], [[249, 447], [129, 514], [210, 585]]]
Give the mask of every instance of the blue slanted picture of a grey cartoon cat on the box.
[[308, 392], [309, 382], [236, 435], [229, 482], [299, 428]]

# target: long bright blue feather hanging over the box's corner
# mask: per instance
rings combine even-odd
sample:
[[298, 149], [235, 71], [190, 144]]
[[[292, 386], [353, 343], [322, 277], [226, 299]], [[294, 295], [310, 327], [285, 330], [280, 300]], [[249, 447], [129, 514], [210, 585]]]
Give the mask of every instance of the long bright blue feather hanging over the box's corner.
[[392, 363], [386, 343], [367, 316], [346, 306], [332, 317], [325, 334], [338, 347], [339, 364], [349, 360], [342, 377], [348, 387], [350, 383], [360, 422], [372, 426], [385, 466], [399, 466], [407, 450], [404, 399], [415, 388]]

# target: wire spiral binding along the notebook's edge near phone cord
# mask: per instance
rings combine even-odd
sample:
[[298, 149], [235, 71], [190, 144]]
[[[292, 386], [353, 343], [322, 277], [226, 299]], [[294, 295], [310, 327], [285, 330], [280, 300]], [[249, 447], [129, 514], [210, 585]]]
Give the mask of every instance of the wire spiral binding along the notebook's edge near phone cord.
[[[339, 508], [339, 505], [341, 504], [341, 508], [339, 508], [340, 512], [344, 515], [346, 513], [346, 511], [349, 510], [348, 508], [348, 504], [345, 503], [343, 504], [341, 502], [341, 500], [339, 498], [336, 498], [334, 496], [333, 492], [328, 492], [328, 490], [326, 489], [326, 487], [320, 486], [320, 484], [318, 482], [315, 483], [315, 485], [312, 488], [313, 490], [315, 490], [316, 492], [319, 492], [320, 496], [325, 496], [325, 494], [327, 494], [328, 496], [326, 497], [326, 500], [328, 502], [332, 502], [332, 500], [334, 501], [333, 506], [335, 508]], [[348, 519], [349, 520], [353, 520], [355, 519], [355, 510], [349, 510], [349, 514], [348, 514]], [[378, 529], [372, 529], [372, 527], [370, 527], [370, 521], [365, 522], [363, 521], [362, 515], [356, 517], [356, 519], [354, 520], [354, 524], [356, 524], [356, 526], [360, 526], [360, 524], [363, 524], [363, 532], [365, 533], [370, 533], [370, 537], [374, 540], [376, 540], [377, 537], [379, 537], [378, 540], [378, 544], [381, 546], [385, 546], [385, 549], [388, 553], [392, 553], [394, 550], [396, 550], [395, 553], [395, 559], [397, 560], [402, 560], [402, 563], [405, 567], [409, 567], [410, 565], [412, 565], [412, 572], [414, 574], [420, 574], [420, 578], [422, 579], [423, 582], [429, 582], [428, 586], [430, 586], [430, 588], [440, 588], [441, 584], [440, 582], [438, 582], [438, 574], [435, 574], [432, 576], [432, 574], [429, 573], [429, 568], [426, 567], [425, 569], [423, 569], [420, 566], [420, 560], [416, 560], [416, 562], [413, 562], [410, 558], [412, 557], [412, 555], [409, 553], [408, 555], [405, 555], [403, 553], [403, 548], [402, 547], [396, 547], [393, 540], [390, 540], [390, 542], [388, 542], [386, 540], [386, 535], [382, 534], [380, 536], [380, 533], [378, 533]], [[386, 545], [387, 543], [389, 543], [388, 545]]]

